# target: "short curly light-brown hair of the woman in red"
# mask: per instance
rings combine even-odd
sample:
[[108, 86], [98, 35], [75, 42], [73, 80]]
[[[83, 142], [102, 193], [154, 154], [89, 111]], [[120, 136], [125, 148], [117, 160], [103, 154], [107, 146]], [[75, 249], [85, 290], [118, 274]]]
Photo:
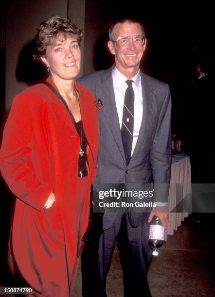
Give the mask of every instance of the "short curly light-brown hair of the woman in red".
[[73, 24], [71, 20], [61, 18], [60, 16], [53, 16], [47, 21], [41, 22], [37, 28], [36, 49], [33, 53], [33, 57], [40, 59], [40, 57], [45, 56], [47, 46], [52, 45], [55, 38], [60, 38], [59, 40], [63, 42], [69, 36], [77, 38], [77, 42], [80, 46], [82, 30]]

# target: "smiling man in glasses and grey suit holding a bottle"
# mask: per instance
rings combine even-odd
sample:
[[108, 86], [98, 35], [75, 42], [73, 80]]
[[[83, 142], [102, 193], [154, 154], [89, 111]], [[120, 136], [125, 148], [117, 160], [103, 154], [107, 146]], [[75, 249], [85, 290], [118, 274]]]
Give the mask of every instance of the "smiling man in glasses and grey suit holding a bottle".
[[[139, 69], [146, 47], [142, 24], [133, 18], [118, 19], [110, 27], [107, 46], [115, 56], [115, 66], [79, 80], [103, 102], [103, 108], [98, 110], [100, 152], [96, 187], [104, 183], [169, 183], [170, 91], [167, 84]], [[147, 281], [152, 257], [148, 222], [158, 215], [167, 227], [167, 200], [166, 191], [159, 207], [150, 215], [105, 212], [98, 248], [87, 245], [82, 257], [83, 296], [107, 296], [106, 277], [116, 242], [123, 268], [124, 296], [151, 296]], [[97, 256], [95, 261], [93, 253]]]

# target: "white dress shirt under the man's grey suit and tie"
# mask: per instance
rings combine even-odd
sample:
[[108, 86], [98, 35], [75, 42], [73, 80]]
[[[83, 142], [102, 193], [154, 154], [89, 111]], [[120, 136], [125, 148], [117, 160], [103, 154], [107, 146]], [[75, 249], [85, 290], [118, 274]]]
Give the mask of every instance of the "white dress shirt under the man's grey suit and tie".
[[[120, 129], [121, 129], [125, 91], [126, 91], [126, 88], [128, 87], [126, 83], [127, 78], [116, 67], [113, 68], [112, 77], [113, 77], [113, 89], [114, 89], [115, 100], [116, 100], [116, 109], [119, 117]], [[134, 132], [133, 132], [133, 142], [132, 142], [132, 148], [131, 148], [131, 156], [132, 156], [134, 148], [137, 143], [137, 138], [139, 135], [142, 117], [143, 117], [143, 95], [142, 95], [140, 70], [131, 80], [133, 81], [132, 88], [134, 90]]]

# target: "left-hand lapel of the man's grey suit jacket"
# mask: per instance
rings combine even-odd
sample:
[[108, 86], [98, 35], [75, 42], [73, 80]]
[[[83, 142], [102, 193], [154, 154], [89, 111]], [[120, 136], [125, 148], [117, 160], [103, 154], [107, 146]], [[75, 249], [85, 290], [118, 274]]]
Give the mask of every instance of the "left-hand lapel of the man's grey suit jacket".
[[106, 75], [101, 84], [97, 85], [96, 100], [103, 101], [103, 109], [99, 111], [100, 116], [105, 116], [113, 138], [120, 150], [120, 153], [125, 161], [125, 152], [123, 148], [119, 117], [116, 109], [116, 101], [113, 89], [112, 67], [107, 69]]

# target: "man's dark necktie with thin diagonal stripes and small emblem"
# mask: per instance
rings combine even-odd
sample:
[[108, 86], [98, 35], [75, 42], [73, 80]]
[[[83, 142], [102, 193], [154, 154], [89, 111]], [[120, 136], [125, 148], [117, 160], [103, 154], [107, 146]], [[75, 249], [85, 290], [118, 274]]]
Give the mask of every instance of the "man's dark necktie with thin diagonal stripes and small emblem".
[[125, 99], [123, 106], [123, 122], [121, 128], [123, 147], [125, 151], [126, 164], [131, 159], [131, 148], [133, 142], [134, 131], [134, 90], [132, 88], [132, 80], [127, 80], [128, 87], [125, 91]]

